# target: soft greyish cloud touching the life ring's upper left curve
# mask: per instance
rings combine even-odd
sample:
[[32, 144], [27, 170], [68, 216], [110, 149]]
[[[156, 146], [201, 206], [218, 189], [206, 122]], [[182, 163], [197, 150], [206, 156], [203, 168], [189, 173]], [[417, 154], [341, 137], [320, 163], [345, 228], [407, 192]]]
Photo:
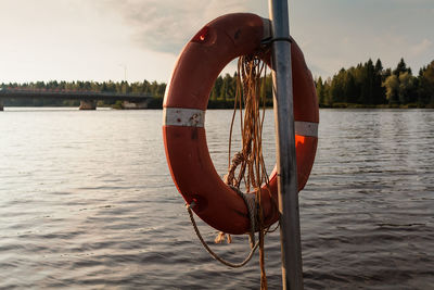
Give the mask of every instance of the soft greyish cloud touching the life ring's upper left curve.
[[247, 11], [252, 0], [107, 0], [102, 8], [119, 13], [139, 46], [177, 54], [213, 18]]

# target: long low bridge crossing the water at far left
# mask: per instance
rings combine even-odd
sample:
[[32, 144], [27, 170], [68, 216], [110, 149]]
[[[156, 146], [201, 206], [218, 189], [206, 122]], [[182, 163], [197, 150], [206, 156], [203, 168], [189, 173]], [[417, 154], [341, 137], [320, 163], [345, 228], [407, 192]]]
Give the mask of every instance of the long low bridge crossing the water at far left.
[[3, 111], [5, 99], [51, 99], [79, 100], [80, 110], [95, 110], [97, 101], [123, 101], [124, 109], [146, 109], [153, 99], [150, 94], [110, 93], [93, 91], [54, 91], [0, 88], [0, 111]]

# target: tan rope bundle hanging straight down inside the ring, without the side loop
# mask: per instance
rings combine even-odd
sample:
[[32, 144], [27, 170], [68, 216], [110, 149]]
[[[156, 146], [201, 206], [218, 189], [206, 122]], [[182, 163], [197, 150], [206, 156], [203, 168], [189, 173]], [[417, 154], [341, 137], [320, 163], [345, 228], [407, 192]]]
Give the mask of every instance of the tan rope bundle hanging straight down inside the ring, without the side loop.
[[[259, 236], [259, 266], [260, 289], [267, 289], [267, 276], [265, 272], [264, 239], [268, 228], [264, 226], [261, 206], [261, 186], [268, 184], [263, 155], [263, 126], [265, 117], [265, 79], [267, 65], [256, 55], [244, 55], [239, 59], [235, 105], [229, 136], [229, 164], [226, 182], [238, 190], [243, 184], [246, 192], [255, 192], [256, 225]], [[260, 114], [260, 101], [263, 101], [263, 114]], [[244, 104], [244, 118], [243, 118]], [[240, 111], [240, 125], [242, 134], [242, 150], [237, 152], [230, 162], [232, 130], [237, 111]], [[239, 167], [237, 176], [235, 171]], [[235, 177], [237, 176], [237, 177]], [[253, 226], [253, 225], [251, 225]], [[253, 237], [252, 237], [253, 236]], [[254, 235], [251, 235], [251, 243]]]

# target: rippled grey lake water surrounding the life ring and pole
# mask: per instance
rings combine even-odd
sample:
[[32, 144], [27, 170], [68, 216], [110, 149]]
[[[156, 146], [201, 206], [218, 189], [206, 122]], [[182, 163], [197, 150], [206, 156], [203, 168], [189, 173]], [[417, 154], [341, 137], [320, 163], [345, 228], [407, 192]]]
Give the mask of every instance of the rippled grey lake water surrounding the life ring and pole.
[[[208, 111], [227, 164], [232, 112]], [[267, 111], [267, 166], [273, 164]], [[301, 192], [306, 289], [434, 289], [434, 111], [321, 110]], [[257, 254], [208, 256], [169, 175], [162, 111], [0, 112], [0, 289], [258, 289]], [[216, 231], [200, 223], [207, 241]], [[281, 287], [279, 232], [267, 236]], [[214, 245], [241, 261], [247, 239]]]

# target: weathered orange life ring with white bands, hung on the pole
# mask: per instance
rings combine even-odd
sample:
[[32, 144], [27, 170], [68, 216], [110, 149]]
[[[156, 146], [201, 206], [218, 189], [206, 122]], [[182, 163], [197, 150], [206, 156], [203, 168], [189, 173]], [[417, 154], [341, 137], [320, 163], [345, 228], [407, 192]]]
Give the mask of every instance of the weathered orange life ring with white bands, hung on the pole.
[[[184, 47], [167, 85], [163, 104], [163, 138], [176, 187], [209, 226], [239, 235], [250, 231], [247, 207], [216, 172], [205, 136], [205, 112], [214, 81], [240, 55], [261, 50], [270, 24], [255, 14], [234, 13], [205, 25]], [[304, 55], [291, 45], [298, 190], [309, 177], [317, 150], [319, 110], [315, 86]], [[269, 63], [269, 54], [264, 58]], [[263, 187], [264, 223], [279, 218], [276, 171]], [[269, 193], [271, 192], [271, 194]], [[254, 193], [252, 193], [254, 194]], [[273, 199], [273, 200], [271, 200]]]

